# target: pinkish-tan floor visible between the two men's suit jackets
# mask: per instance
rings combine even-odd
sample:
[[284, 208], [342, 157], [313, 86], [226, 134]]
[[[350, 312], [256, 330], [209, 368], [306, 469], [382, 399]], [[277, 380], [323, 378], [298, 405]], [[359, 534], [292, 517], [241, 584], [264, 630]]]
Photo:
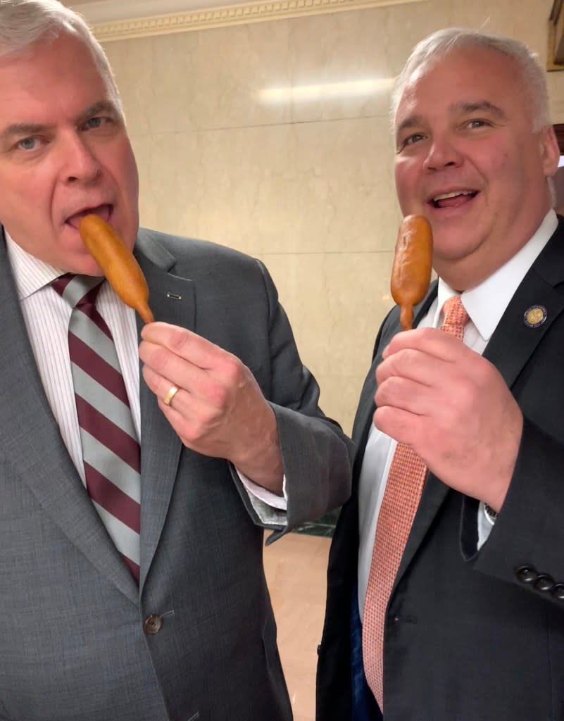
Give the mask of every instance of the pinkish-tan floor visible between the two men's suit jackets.
[[265, 547], [266, 578], [294, 721], [315, 718], [315, 668], [325, 614], [330, 541], [292, 533]]

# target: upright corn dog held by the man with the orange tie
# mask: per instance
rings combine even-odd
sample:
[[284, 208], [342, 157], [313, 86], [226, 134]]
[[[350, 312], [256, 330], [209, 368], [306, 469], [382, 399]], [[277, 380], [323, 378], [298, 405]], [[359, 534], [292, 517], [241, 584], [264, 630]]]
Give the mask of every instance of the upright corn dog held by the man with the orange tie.
[[424, 216], [405, 216], [395, 247], [390, 289], [400, 306], [400, 324], [413, 326], [413, 306], [425, 298], [431, 280], [433, 232]]

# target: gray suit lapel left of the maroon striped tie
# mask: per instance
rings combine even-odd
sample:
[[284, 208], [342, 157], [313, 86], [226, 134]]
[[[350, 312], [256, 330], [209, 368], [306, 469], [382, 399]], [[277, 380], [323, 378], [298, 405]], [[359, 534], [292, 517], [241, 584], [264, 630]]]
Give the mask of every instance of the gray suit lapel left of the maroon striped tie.
[[45, 513], [133, 603], [138, 590], [89, 499], [61, 439], [19, 309], [0, 242], [1, 452]]

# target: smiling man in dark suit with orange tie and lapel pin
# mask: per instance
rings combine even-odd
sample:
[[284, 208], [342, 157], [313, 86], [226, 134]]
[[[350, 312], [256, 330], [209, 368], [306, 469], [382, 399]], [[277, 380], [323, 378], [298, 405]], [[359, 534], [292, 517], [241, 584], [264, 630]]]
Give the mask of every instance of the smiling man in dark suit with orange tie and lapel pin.
[[[400, 207], [431, 222], [439, 278], [415, 329], [396, 307], [376, 339], [317, 719], [560, 720], [564, 225], [545, 72], [514, 40], [442, 30], [393, 117]], [[439, 330], [452, 307], [459, 337]]]

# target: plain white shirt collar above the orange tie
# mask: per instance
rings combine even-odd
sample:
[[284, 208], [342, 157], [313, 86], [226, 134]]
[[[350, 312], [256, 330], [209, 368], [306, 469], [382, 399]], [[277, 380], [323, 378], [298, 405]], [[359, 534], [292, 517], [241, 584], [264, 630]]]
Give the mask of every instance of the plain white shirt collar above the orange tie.
[[[537, 259], [537, 256], [554, 234], [557, 226], [558, 218], [555, 211], [551, 209], [546, 214], [539, 229], [519, 252], [516, 252], [505, 265], [498, 268], [480, 285], [471, 288], [469, 291], [464, 291], [460, 296], [464, 309], [466, 309], [472, 323], [475, 324], [477, 331], [484, 340], [490, 340], [493, 331], [509, 305], [509, 301], [513, 298], [515, 291], [519, 288], [521, 281]], [[439, 316], [445, 301], [456, 295], [457, 291], [454, 291], [442, 278], [439, 278], [434, 327], [439, 327]]]

